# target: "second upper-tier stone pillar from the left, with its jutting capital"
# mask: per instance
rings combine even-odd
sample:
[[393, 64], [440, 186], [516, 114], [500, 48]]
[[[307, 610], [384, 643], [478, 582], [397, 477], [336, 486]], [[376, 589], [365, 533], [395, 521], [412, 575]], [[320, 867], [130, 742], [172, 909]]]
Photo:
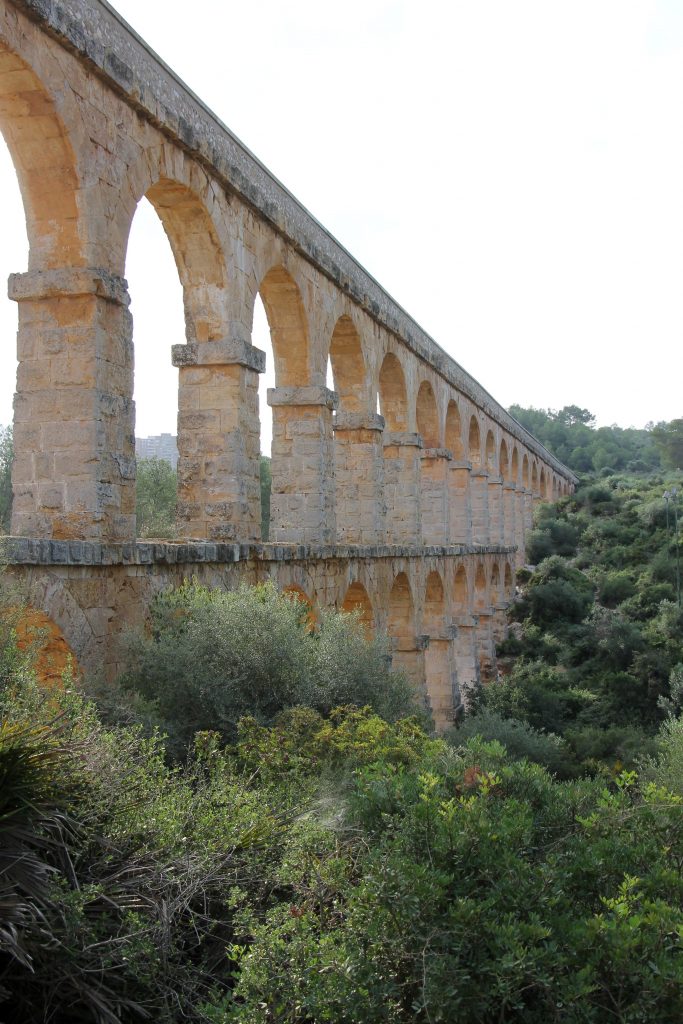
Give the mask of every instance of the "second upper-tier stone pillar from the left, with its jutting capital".
[[243, 338], [173, 346], [178, 367], [179, 539], [261, 537], [258, 375], [265, 353]]

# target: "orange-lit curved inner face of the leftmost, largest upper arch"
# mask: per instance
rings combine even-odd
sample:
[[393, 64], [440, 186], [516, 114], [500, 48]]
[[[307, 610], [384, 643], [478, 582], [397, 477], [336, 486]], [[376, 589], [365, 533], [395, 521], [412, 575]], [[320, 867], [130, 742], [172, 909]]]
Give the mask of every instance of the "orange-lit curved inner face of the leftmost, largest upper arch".
[[67, 127], [33, 69], [0, 42], [0, 132], [24, 201], [29, 268], [85, 264], [77, 161]]

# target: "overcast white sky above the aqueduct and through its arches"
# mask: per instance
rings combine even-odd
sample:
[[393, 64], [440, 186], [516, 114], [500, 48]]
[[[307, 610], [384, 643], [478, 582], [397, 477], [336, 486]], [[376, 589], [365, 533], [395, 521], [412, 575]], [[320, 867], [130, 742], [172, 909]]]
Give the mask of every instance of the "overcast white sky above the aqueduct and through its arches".
[[[681, 0], [114, 6], [502, 404], [683, 415]], [[151, 208], [133, 231], [137, 432], [175, 432], [180, 289]], [[0, 423], [14, 324], [0, 299]]]

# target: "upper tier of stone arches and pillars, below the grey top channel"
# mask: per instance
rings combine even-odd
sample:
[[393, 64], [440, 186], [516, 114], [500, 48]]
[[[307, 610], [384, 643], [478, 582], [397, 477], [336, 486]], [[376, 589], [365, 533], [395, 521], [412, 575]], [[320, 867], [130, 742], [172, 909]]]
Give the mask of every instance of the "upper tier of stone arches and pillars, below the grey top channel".
[[[124, 273], [144, 198], [183, 295], [185, 341], [173, 350], [180, 539], [261, 539], [260, 297], [274, 368], [270, 540], [523, 543], [533, 501], [570, 479], [532, 438], [484, 409], [474, 382], [456, 386], [455, 365], [437, 369], [370, 315], [276, 217], [228, 195], [77, 54], [20, 13], [0, 14], [0, 132], [30, 245], [29, 271], [10, 281], [19, 309], [12, 531], [135, 538]], [[520, 497], [506, 498], [502, 484]]]

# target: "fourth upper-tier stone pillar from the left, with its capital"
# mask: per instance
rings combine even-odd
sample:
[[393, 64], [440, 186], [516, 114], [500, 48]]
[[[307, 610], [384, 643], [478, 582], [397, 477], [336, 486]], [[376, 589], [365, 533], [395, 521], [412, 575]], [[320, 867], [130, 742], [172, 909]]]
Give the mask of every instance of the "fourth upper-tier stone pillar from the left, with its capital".
[[335, 495], [337, 541], [383, 544], [384, 419], [377, 413], [335, 414]]

